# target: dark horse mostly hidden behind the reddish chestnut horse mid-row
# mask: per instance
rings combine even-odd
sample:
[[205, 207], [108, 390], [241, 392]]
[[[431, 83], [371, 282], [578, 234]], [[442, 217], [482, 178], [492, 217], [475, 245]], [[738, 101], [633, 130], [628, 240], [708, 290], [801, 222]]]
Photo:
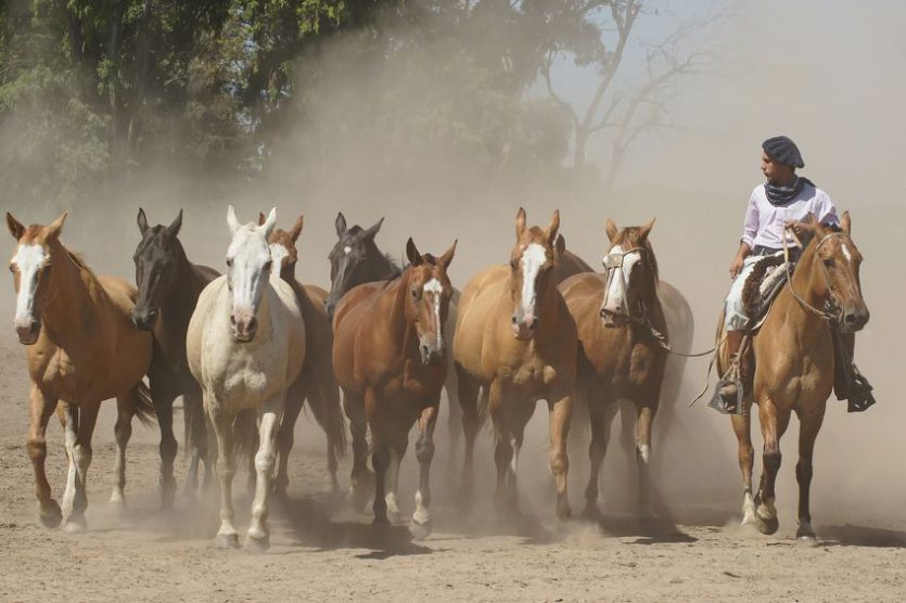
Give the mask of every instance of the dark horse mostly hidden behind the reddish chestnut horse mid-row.
[[[374, 238], [383, 223], [384, 219], [381, 218], [368, 229], [362, 229], [358, 224], [347, 227], [343, 213], [336, 214], [334, 226], [337, 240], [328, 256], [330, 259], [331, 284], [327, 309], [328, 317], [331, 320], [333, 320], [333, 309], [337, 302], [349, 290], [362, 283], [394, 279], [403, 272], [403, 269], [387, 254], [382, 253], [374, 243]], [[448, 342], [452, 341], [458, 303], [459, 292], [454, 287], [450, 310], [444, 323], [444, 337]], [[450, 451], [451, 456], [455, 456], [459, 448], [462, 415], [459, 412], [459, 406], [455, 402], [458, 399], [458, 383], [452, 368], [452, 355], [447, 355], [447, 383], [444, 384], [444, 390], [447, 393], [449, 409], [447, 429], [450, 438]]]

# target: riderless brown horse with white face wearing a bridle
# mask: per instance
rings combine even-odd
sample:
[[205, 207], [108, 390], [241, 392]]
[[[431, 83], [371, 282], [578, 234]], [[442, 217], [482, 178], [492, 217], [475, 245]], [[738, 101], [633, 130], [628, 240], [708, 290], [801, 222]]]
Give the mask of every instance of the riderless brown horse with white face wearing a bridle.
[[658, 297], [658, 261], [648, 240], [652, 226], [654, 220], [620, 230], [608, 220], [607, 273], [576, 274], [560, 285], [578, 329], [578, 390], [588, 405], [591, 425], [587, 516], [598, 515], [598, 480], [607, 434], [620, 400], [629, 400], [636, 407], [638, 509], [641, 513], [649, 510], [651, 426], [667, 355], [649, 328], [666, 334]]

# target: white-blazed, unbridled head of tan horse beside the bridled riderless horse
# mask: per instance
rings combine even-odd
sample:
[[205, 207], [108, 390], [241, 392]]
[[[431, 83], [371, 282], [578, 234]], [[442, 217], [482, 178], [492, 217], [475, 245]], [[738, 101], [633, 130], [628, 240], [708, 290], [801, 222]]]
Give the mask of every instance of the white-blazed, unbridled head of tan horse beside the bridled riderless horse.
[[510, 254], [510, 295], [514, 311], [510, 317], [513, 334], [531, 339], [538, 328], [536, 303], [556, 287], [553, 279], [553, 243], [560, 228], [560, 210], [556, 209], [547, 229], [525, 226], [525, 209], [515, 218], [516, 245]]

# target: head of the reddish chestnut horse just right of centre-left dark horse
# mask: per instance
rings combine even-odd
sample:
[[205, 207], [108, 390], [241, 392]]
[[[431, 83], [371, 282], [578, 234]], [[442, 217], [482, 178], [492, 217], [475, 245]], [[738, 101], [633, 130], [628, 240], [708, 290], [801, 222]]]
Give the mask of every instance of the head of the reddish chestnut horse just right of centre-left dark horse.
[[444, 323], [452, 297], [447, 268], [456, 253], [456, 241], [441, 257], [420, 254], [411, 238], [406, 242], [409, 266], [404, 272], [406, 322], [416, 328], [422, 363], [437, 364], [446, 354]]

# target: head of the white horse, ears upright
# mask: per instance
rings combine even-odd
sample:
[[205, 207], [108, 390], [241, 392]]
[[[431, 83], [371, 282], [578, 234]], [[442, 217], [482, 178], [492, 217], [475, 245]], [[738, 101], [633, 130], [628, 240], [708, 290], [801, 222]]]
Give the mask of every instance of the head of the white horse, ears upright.
[[227, 210], [227, 223], [232, 234], [227, 249], [227, 284], [232, 303], [230, 326], [237, 342], [251, 342], [258, 328], [257, 313], [273, 266], [267, 242], [276, 222], [276, 208], [260, 226], [254, 222], [240, 224], [233, 206]]

